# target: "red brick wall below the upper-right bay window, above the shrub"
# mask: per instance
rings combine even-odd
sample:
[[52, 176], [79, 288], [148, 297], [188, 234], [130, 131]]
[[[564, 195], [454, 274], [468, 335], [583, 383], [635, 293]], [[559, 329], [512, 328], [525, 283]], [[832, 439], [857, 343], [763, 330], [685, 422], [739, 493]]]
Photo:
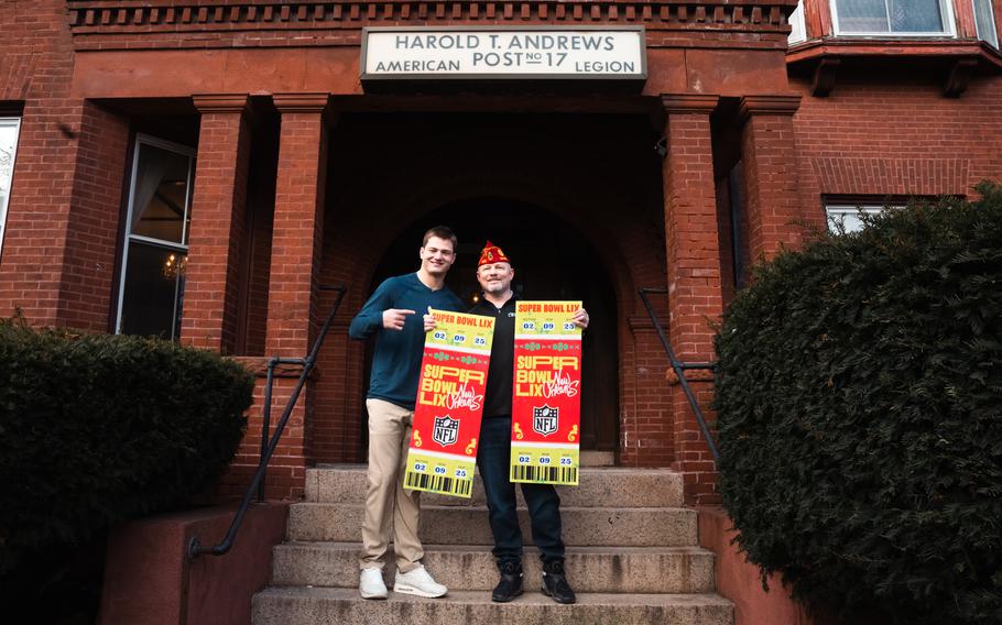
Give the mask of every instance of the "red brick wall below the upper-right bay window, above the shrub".
[[840, 70], [828, 98], [804, 94], [794, 117], [804, 215], [824, 227], [824, 195], [972, 194], [1002, 179], [1002, 79], [976, 76], [946, 98], [938, 70]]

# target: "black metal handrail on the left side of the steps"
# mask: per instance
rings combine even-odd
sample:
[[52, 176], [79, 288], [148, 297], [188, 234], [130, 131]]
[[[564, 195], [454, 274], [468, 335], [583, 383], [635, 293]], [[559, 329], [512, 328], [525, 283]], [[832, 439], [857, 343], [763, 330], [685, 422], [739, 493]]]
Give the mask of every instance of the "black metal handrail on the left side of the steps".
[[[232, 548], [233, 540], [237, 538], [237, 533], [240, 530], [240, 526], [243, 523], [243, 517], [247, 515], [247, 511], [250, 507], [250, 502], [254, 497], [254, 492], [257, 491], [258, 493], [258, 501], [264, 500], [264, 475], [268, 472], [268, 462], [271, 460], [272, 454], [275, 452], [275, 448], [279, 446], [279, 439], [282, 438], [282, 432], [285, 430], [285, 424], [288, 423], [288, 417], [292, 416], [292, 410], [299, 399], [299, 394], [306, 385], [309, 373], [313, 371], [314, 366], [316, 366], [317, 354], [320, 351], [320, 347], [324, 344], [324, 339], [327, 338], [327, 332], [330, 331], [334, 316], [337, 315], [337, 310], [340, 308], [341, 300], [345, 298], [345, 293], [348, 289], [342, 285], [337, 285], [322, 286], [320, 290], [337, 292], [337, 299], [335, 299], [334, 306], [330, 308], [330, 314], [327, 315], [327, 320], [324, 322], [324, 327], [320, 328], [320, 333], [317, 335], [317, 339], [313, 343], [313, 349], [309, 351], [309, 354], [306, 355], [306, 358], [272, 357], [268, 360], [268, 380], [264, 386], [264, 410], [261, 426], [261, 460], [258, 463], [258, 470], [254, 472], [254, 478], [251, 480], [250, 486], [248, 486], [247, 493], [240, 502], [240, 507], [237, 508], [237, 514], [233, 515], [230, 528], [227, 530], [222, 542], [211, 547], [203, 547], [198, 536], [193, 536], [192, 540], [188, 542], [188, 558], [197, 558], [204, 553], [222, 556], [229, 551], [230, 548]], [[271, 391], [275, 380], [275, 366], [280, 364], [301, 364], [303, 366], [303, 372], [299, 373], [299, 380], [296, 382], [296, 386], [288, 397], [288, 403], [285, 404], [285, 410], [282, 412], [282, 418], [279, 419], [279, 425], [275, 426], [274, 434], [269, 438], [269, 428], [271, 427]]]

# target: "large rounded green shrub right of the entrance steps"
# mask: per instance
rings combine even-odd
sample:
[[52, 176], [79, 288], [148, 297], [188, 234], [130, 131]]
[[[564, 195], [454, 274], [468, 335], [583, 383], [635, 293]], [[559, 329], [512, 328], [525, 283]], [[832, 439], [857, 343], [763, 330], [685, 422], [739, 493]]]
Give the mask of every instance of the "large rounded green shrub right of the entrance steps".
[[716, 339], [720, 489], [847, 622], [1002, 623], [1002, 187], [758, 267]]

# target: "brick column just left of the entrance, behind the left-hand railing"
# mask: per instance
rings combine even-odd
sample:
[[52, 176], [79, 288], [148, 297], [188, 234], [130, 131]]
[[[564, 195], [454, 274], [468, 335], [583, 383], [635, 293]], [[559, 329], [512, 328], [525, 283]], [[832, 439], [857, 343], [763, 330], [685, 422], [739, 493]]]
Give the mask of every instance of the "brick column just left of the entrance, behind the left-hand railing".
[[[272, 232], [265, 354], [304, 358], [313, 347], [319, 319], [317, 286], [323, 252], [324, 189], [327, 171], [327, 94], [274, 96], [282, 116], [275, 216]], [[301, 369], [285, 369], [272, 390], [272, 428], [285, 408]], [[270, 498], [303, 493], [305, 469], [312, 463], [309, 427], [314, 403], [313, 380], [296, 402], [268, 471]], [[249, 473], [258, 463], [264, 379], [258, 377], [248, 436], [233, 465]], [[238, 480], [239, 481], [239, 480]], [[246, 483], [247, 478], [242, 479]]]

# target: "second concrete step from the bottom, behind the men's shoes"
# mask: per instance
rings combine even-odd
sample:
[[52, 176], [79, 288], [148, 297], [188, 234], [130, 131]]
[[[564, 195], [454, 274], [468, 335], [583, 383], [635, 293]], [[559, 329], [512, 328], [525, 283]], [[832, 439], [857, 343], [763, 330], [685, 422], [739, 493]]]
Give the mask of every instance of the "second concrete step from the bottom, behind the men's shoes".
[[[490, 547], [425, 544], [424, 562], [450, 590], [490, 591], [498, 573]], [[358, 586], [358, 542], [286, 542], [274, 550], [272, 583]], [[542, 577], [538, 552], [526, 548], [526, 585]], [[388, 558], [386, 582], [394, 567]], [[714, 591], [714, 555], [698, 547], [569, 547], [566, 566], [577, 592], [706, 593]]]

